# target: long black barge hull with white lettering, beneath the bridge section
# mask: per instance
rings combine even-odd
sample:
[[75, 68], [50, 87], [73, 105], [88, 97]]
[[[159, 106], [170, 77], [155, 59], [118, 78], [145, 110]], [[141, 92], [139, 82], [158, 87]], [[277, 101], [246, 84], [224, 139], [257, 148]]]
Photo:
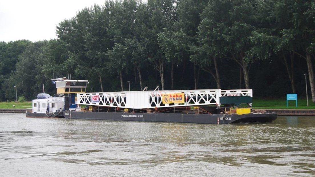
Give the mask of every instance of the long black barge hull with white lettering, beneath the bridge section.
[[169, 113], [121, 113], [121, 112], [81, 112], [65, 111], [64, 117], [69, 119], [123, 120], [144, 122], [179, 122], [179, 123], [254, 123], [272, 122], [277, 114], [169, 114]]

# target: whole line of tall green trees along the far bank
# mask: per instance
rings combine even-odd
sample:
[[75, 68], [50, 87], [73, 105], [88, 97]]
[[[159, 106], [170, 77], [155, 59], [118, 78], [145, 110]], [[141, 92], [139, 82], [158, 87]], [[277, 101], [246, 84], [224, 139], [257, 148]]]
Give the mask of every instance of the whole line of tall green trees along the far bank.
[[315, 102], [311, 0], [106, 1], [56, 26], [57, 39], [0, 43], [0, 99], [54, 94], [53, 77], [87, 91], [252, 88], [258, 97]]

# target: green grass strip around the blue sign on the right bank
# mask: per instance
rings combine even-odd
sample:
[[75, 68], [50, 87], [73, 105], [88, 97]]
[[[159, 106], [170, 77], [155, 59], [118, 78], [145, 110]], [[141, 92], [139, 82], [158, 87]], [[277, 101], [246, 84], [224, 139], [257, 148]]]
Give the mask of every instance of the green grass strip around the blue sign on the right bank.
[[315, 109], [315, 103], [308, 99], [308, 107], [306, 105], [306, 98], [298, 98], [297, 105], [295, 107], [295, 101], [289, 101], [287, 107], [286, 98], [283, 99], [260, 99], [253, 98], [254, 109]]

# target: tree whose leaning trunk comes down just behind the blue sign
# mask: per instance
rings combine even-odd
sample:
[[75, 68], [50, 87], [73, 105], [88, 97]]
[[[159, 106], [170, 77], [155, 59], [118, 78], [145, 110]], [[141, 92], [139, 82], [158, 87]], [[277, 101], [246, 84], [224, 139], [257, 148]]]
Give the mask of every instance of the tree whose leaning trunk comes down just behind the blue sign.
[[[294, 76], [294, 45], [286, 43], [282, 30], [292, 26], [292, 10], [281, 1], [257, 1], [255, 20], [256, 30], [252, 32], [250, 42], [253, 47], [249, 54], [262, 60], [271, 60], [273, 53], [283, 62], [291, 83], [292, 92], [296, 93]], [[288, 60], [289, 58], [289, 60]]]

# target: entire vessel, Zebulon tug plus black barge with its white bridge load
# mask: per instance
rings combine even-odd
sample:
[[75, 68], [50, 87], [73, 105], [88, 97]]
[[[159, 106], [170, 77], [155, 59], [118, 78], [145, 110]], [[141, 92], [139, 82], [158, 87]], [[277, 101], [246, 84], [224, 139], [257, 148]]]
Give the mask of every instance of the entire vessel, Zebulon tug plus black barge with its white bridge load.
[[[55, 97], [32, 101], [26, 117], [179, 123], [272, 122], [276, 114], [251, 111], [252, 89], [155, 90], [85, 93], [87, 80], [58, 78]], [[240, 104], [249, 108], [238, 108]], [[80, 105], [86, 108], [80, 108]]]

